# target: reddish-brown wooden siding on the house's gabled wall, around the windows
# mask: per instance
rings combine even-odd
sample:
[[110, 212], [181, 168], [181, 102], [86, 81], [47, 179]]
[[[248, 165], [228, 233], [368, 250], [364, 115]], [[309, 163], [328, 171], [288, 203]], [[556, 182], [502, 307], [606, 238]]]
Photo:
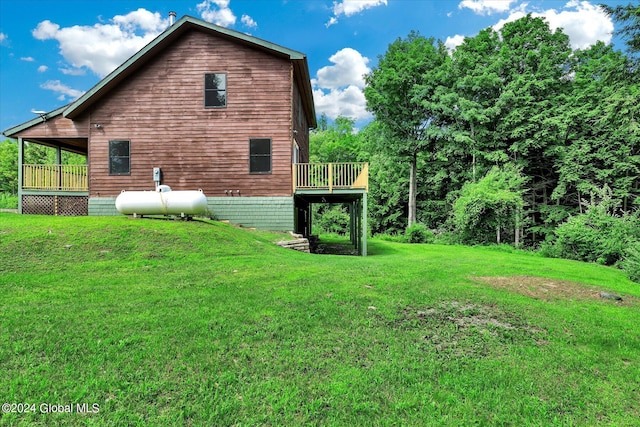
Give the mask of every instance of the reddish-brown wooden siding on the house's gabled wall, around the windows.
[[[204, 108], [205, 73], [227, 74], [226, 108]], [[90, 195], [153, 189], [154, 167], [175, 190], [291, 195], [292, 123], [308, 147], [306, 121], [296, 119], [304, 117], [299, 103], [289, 60], [187, 32], [83, 115], [90, 123]], [[271, 174], [249, 173], [250, 138], [272, 139]], [[129, 176], [109, 176], [113, 139], [131, 141]]]

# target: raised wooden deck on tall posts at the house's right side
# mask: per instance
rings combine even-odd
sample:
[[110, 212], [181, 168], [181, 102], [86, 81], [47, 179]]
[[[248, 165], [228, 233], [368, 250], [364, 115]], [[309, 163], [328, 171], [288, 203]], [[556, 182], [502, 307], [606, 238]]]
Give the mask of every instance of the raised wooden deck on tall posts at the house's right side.
[[349, 236], [362, 256], [367, 255], [368, 163], [297, 163], [292, 166], [296, 228], [311, 235], [311, 208], [315, 203], [342, 203], [349, 207]]

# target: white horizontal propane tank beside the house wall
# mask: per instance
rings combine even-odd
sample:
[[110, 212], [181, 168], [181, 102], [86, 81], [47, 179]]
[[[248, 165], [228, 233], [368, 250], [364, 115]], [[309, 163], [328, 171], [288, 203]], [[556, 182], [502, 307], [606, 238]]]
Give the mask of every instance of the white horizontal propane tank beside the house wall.
[[116, 198], [116, 209], [124, 215], [198, 215], [207, 210], [202, 190], [171, 191], [160, 185], [156, 191], [124, 191]]

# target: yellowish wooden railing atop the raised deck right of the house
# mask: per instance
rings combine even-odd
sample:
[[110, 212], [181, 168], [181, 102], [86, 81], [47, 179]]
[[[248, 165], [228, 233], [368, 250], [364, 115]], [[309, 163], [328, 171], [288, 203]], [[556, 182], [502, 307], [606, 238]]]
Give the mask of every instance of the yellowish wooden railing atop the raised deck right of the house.
[[293, 165], [293, 189], [364, 189], [369, 191], [368, 163], [296, 163]]

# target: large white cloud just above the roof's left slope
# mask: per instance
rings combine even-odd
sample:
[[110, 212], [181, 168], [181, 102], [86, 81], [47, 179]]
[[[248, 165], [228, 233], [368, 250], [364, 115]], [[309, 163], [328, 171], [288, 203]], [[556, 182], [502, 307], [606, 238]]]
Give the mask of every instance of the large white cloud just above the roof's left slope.
[[147, 45], [169, 26], [169, 19], [159, 13], [138, 9], [127, 15], [117, 15], [107, 24], [74, 25], [61, 28], [49, 20], [42, 21], [32, 31], [38, 40], [56, 40], [60, 54], [71, 69], [69, 74], [88, 68], [104, 77], [126, 59]]

